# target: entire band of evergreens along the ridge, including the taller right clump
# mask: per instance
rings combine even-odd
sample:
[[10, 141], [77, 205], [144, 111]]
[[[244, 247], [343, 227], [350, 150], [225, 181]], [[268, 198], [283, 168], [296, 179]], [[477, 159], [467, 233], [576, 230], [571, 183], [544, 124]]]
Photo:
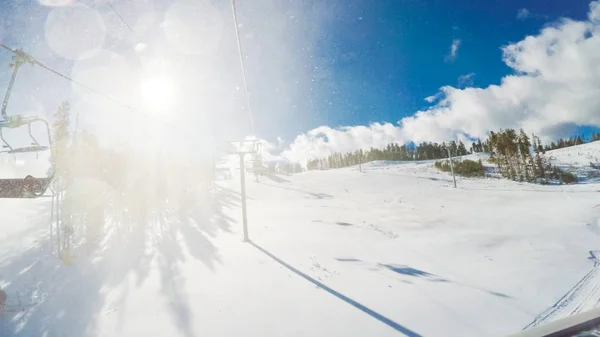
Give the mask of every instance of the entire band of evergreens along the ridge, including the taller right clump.
[[[593, 133], [590, 141], [600, 140], [600, 134]], [[540, 138], [534, 134], [527, 135], [522, 129], [506, 129], [496, 132], [490, 132], [490, 135], [484, 141], [478, 139], [472, 142], [469, 151], [463, 142], [452, 141], [446, 143], [420, 143], [417, 145], [397, 143], [389, 144], [384, 149], [370, 148], [369, 150], [357, 150], [345, 154], [334, 153], [327, 158], [312, 159], [307, 163], [309, 170], [326, 170], [331, 168], [342, 168], [359, 163], [365, 163], [373, 160], [432, 160], [446, 159], [448, 151], [452, 156], [464, 156], [469, 153], [484, 152], [490, 155], [490, 162], [494, 163], [497, 172], [508, 179], [516, 181], [528, 181], [537, 183], [547, 183], [549, 181], [560, 181], [563, 183], [573, 183], [577, 177], [568, 172], [561, 171], [558, 167], [552, 166], [542, 154], [545, 151], [584, 144], [581, 136], [574, 136], [567, 139], [559, 139], [549, 145], [543, 145]], [[457, 165], [463, 165], [460, 161]], [[436, 163], [436, 167], [441, 170], [448, 170], [449, 166], [445, 162]], [[464, 174], [467, 176], [484, 175], [483, 163], [465, 162]], [[463, 171], [459, 169], [458, 171]], [[460, 174], [460, 172], [459, 172]]]

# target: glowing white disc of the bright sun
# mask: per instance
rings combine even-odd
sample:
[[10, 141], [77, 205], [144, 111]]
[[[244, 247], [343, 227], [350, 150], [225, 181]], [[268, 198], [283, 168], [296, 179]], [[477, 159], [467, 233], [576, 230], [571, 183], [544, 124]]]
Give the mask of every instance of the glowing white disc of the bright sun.
[[165, 77], [146, 78], [140, 86], [140, 98], [148, 109], [166, 113], [175, 106], [175, 87]]

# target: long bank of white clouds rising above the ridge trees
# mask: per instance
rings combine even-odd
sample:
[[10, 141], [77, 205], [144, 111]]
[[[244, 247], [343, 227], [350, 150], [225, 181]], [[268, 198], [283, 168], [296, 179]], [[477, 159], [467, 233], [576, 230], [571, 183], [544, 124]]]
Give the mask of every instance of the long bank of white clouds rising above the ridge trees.
[[573, 125], [600, 127], [600, 1], [591, 3], [588, 17], [563, 19], [504, 46], [503, 61], [514, 74], [498, 85], [444, 86], [437, 104], [397, 124], [322, 126], [298, 136], [283, 154], [297, 160], [389, 142], [483, 138], [499, 128], [522, 127], [548, 139]]

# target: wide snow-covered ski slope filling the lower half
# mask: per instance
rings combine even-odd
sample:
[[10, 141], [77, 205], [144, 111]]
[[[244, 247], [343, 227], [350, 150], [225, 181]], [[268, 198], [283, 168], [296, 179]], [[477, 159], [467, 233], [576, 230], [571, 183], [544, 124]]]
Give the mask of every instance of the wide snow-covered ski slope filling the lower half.
[[597, 183], [362, 170], [248, 176], [249, 243], [234, 172], [71, 266], [49, 199], [0, 200], [0, 284], [31, 304], [0, 336], [504, 336], [598, 304]]

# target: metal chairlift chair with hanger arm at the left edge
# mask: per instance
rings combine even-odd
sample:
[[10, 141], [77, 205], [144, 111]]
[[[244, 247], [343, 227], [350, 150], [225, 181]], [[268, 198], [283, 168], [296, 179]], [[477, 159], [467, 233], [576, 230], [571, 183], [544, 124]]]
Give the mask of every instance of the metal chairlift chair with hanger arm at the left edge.
[[[7, 148], [8, 150], [2, 150], [0, 153], [12, 154], [16, 160], [15, 154], [17, 153], [35, 152], [36, 158], [38, 158], [38, 152], [49, 151], [52, 149], [52, 133], [50, 131], [50, 125], [48, 124], [48, 121], [39, 116], [9, 116], [6, 112], [8, 102], [10, 101], [10, 95], [12, 93], [19, 70], [25, 64], [36, 64], [35, 59], [22, 50], [15, 50], [14, 53], [15, 55], [13, 56], [13, 63], [11, 64], [13, 67], [13, 73], [4, 96], [4, 101], [2, 102], [2, 120], [0, 120], [0, 141], [2, 141], [2, 148]], [[48, 133], [48, 146], [40, 145], [40, 143], [31, 133], [31, 125], [34, 123], [42, 123], [45, 125]], [[30, 146], [13, 148], [4, 138], [2, 129], [16, 129], [25, 125], [27, 126], [29, 137], [31, 138]], [[37, 198], [44, 195], [50, 185], [50, 182], [54, 178], [55, 170], [54, 161], [52, 160], [52, 152], [50, 152], [50, 156], [52, 167], [50, 169], [50, 175], [47, 177], [35, 178], [31, 175], [27, 175], [23, 179], [0, 178], [0, 198]]]

